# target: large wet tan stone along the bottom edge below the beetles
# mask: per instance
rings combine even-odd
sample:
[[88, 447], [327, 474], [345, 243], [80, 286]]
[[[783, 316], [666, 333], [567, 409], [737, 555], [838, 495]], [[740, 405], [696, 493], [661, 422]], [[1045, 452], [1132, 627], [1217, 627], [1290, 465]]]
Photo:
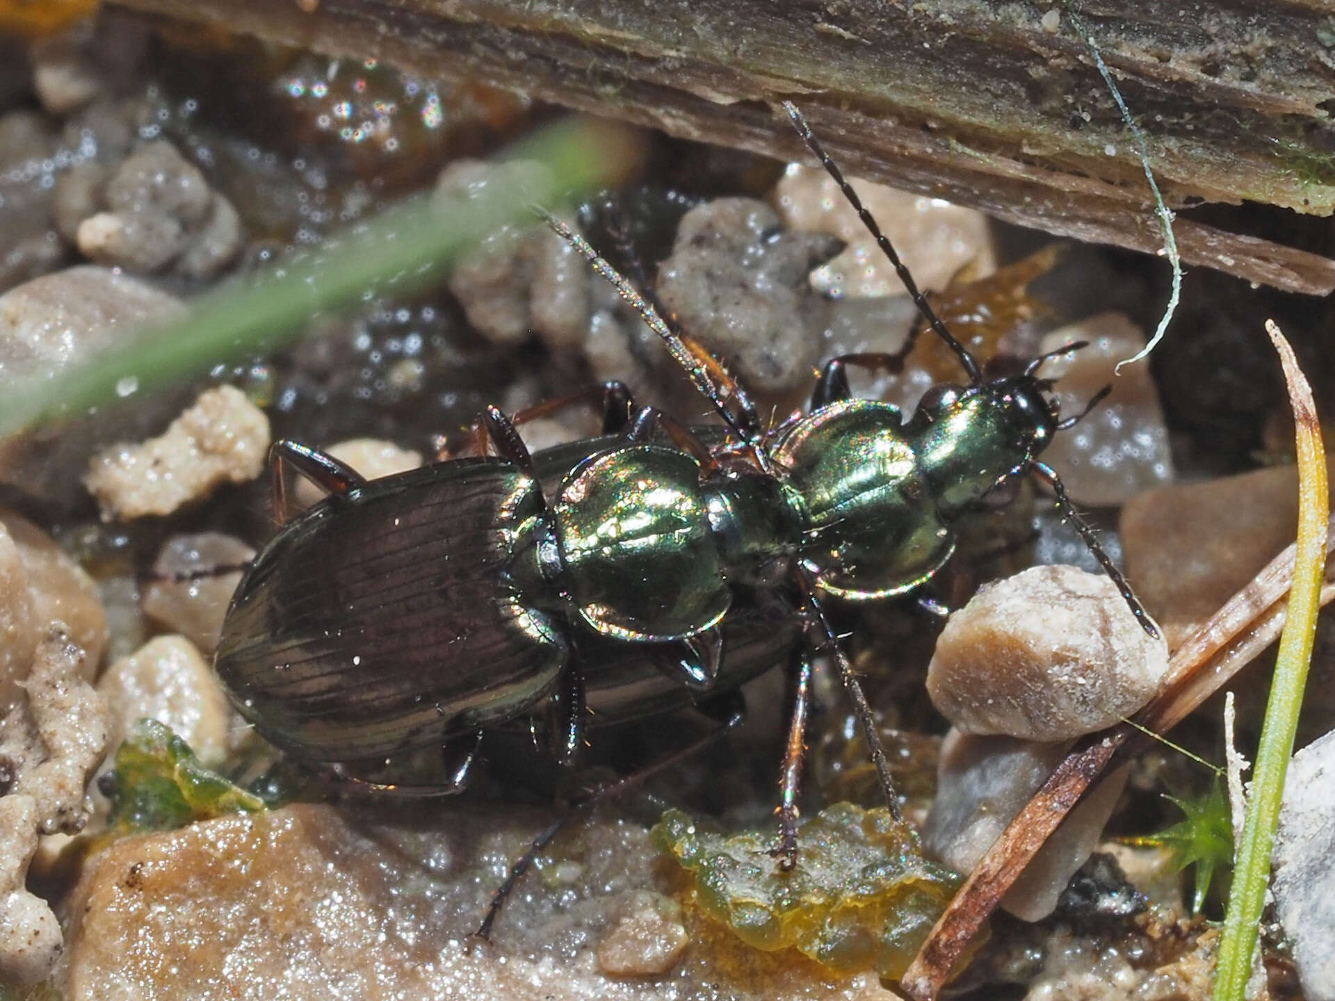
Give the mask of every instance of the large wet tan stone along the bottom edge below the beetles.
[[834, 977], [688, 916], [666, 977], [609, 978], [595, 944], [638, 890], [668, 888], [638, 825], [595, 818], [519, 884], [490, 942], [470, 940], [510, 858], [551, 814], [498, 803], [294, 805], [123, 838], [71, 904], [55, 982], [71, 1001], [889, 1001], [874, 974]]

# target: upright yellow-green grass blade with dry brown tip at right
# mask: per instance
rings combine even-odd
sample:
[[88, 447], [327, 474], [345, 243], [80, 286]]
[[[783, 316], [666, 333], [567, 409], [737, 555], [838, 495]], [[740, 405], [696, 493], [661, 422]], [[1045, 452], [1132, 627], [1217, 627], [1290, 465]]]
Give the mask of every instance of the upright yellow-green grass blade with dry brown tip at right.
[[1243, 1001], [1252, 972], [1258, 925], [1266, 906], [1266, 888], [1270, 885], [1275, 827], [1279, 825], [1279, 807], [1284, 795], [1284, 775], [1294, 754], [1294, 734], [1298, 733], [1298, 714], [1303, 707], [1303, 687], [1307, 685], [1307, 669], [1312, 659], [1322, 569], [1327, 553], [1328, 533], [1324, 529], [1330, 519], [1326, 451], [1322, 447], [1322, 428], [1312, 391], [1298, 367], [1292, 348], [1274, 320], [1266, 322], [1266, 331], [1284, 366], [1298, 434], [1298, 555], [1288, 599], [1291, 614], [1279, 638], [1275, 678], [1271, 682], [1256, 751], [1256, 770], [1252, 774], [1252, 794], [1238, 848], [1224, 934], [1219, 941], [1216, 1001]]

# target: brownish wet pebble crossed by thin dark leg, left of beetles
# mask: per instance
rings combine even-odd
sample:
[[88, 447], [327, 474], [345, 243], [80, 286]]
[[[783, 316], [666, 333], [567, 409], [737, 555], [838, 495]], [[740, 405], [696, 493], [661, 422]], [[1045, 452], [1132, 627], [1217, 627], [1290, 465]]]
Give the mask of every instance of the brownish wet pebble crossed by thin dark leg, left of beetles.
[[[223, 533], [174, 535], [167, 539], [154, 562], [154, 573], [163, 579], [152, 581], [144, 589], [144, 613], [188, 638], [206, 654], [214, 653], [242, 571], [212, 571], [242, 566], [254, 555], [254, 549]], [[200, 577], [190, 581], [171, 579], [195, 573]]]

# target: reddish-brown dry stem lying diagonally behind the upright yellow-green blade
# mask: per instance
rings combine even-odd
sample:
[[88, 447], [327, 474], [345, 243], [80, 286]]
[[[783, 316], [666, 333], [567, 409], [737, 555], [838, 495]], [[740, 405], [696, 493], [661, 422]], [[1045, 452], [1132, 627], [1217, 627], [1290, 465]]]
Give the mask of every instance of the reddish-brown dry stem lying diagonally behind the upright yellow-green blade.
[[[1327, 522], [1327, 551], [1335, 523]], [[1296, 545], [1272, 559], [1251, 583], [1230, 598], [1169, 661], [1165, 687], [1136, 714], [1133, 723], [1165, 733], [1228, 683], [1279, 637], [1288, 611]], [[1335, 598], [1335, 562], [1326, 565], [1319, 605]], [[1149, 737], [1119, 723], [1093, 734], [1067, 755], [996, 840], [936, 922], [900, 986], [916, 1001], [934, 998], [1011, 884], [1089, 790], [1115, 757], [1129, 757]]]

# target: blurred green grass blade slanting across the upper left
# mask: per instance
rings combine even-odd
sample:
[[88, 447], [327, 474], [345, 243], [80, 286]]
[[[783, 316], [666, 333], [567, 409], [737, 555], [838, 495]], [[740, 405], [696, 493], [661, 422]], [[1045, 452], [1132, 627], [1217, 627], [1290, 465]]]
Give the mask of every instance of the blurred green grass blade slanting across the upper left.
[[[634, 157], [629, 133], [589, 120], [549, 127], [509, 151], [546, 167], [522, 192], [487, 184], [475, 196], [446, 202], [421, 195], [258, 278], [234, 280], [190, 303], [190, 315], [127, 338], [123, 348], [89, 358], [48, 378], [17, 382], [0, 407], [0, 438], [117, 400], [116, 386], [138, 392], [206, 371], [219, 362], [267, 351], [300, 332], [314, 314], [346, 308], [367, 290], [405, 292], [438, 280], [454, 258], [530, 203], [553, 204], [615, 184]], [[530, 174], [525, 174], [526, 182]]]

